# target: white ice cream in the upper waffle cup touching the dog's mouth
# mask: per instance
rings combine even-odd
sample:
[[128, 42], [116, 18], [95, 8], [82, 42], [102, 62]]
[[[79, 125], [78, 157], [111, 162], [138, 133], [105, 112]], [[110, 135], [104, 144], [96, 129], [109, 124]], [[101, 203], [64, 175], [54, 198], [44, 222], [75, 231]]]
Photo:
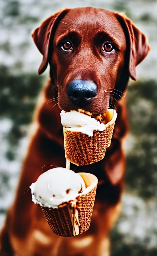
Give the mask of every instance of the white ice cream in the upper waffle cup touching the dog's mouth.
[[70, 131], [82, 132], [88, 136], [93, 136], [94, 130], [103, 131], [106, 129], [104, 123], [100, 123], [95, 118], [75, 110], [70, 112], [62, 110], [60, 116], [62, 125]]

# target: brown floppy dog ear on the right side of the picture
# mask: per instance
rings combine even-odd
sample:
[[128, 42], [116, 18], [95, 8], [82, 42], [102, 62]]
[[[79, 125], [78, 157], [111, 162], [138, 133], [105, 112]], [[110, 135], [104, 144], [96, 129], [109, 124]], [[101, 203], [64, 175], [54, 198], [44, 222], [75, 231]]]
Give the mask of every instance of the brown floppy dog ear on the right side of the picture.
[[150, 46], [147, 43], [146, 36], [129, 18], [119, 13], [115, 13], [115, 16], [124, 30], [126, 40], [129, 40], [129, 74], [133, 80], [136, 80], [136, 66], [147, 56]]

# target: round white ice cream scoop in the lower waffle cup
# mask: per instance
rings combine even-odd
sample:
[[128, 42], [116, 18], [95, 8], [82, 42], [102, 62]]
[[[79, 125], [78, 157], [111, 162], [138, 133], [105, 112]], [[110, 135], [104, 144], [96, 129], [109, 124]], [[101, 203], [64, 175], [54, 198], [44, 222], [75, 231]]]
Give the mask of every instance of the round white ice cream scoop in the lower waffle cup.
[[75, 200], [86, 189], [82, 177], [66, 168], [57, 167], [41, 174], [30, 186], [34, 203], [57, 208], [63, 202]]

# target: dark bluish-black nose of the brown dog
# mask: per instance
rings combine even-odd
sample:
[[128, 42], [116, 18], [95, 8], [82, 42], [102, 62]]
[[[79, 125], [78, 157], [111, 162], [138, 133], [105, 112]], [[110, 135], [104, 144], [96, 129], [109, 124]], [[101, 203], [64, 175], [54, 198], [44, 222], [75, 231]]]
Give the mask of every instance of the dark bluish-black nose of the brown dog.
[[74, 80], [67, 87], [67, 95], [75, 105], [85, 106], [97, 96], [97, 86], [92, 81]]

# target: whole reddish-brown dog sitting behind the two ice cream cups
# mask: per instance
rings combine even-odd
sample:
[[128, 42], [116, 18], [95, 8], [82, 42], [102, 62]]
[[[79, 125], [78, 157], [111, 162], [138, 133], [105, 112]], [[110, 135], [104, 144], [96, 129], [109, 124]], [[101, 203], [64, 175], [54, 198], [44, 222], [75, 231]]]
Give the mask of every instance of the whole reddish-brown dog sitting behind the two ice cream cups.
[[[50, 78], [39, 98], [16, 198], [1, 233], [1, 255], [107, 256], [109, 231], [119, 214], [125, 171], [122, 139], [127, 121], [121, 96], [129, 76], [136, 80], [135, 68], [149, 46], [144, 34], [128, 18], [91, 7], [58, 12], [32, 36], [43, 55], [39, 74], [49, 63]], [[51, 102], [53, 96], [56, 101]], [[88, 166], [71, 165], [72, 170], [93, 173], [99, 180], [90, 229], [76, 237], [59, 237], [50, 230], [40, 206], [32, 202], [30, 190], [25, 191], [44, 165], [65, 167], [60, 110], [82, 107], [103, 114], [113, 106], [114, 99], [118, 100], [118, 117], [105, 158]], [[44, 171], [50, 168], [45, 166]]]

